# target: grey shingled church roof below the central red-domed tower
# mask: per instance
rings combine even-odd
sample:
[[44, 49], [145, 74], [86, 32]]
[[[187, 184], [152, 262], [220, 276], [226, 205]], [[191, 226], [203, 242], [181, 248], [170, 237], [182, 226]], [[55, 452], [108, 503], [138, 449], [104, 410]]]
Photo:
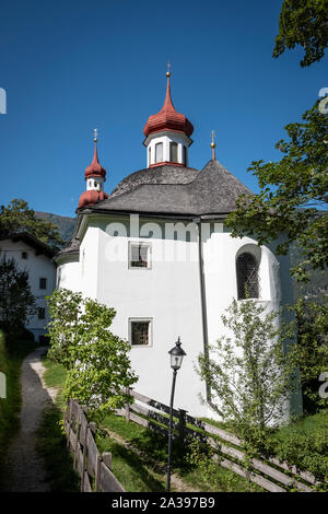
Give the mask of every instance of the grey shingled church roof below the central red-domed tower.
[[201, 172], [180, 166], [136, 172], [108, 199], [89, 209], [168, 215], [225, 214], [235, 210], [235, 201], [242, 194], [253, 195], [222, 164], [211, 160]]

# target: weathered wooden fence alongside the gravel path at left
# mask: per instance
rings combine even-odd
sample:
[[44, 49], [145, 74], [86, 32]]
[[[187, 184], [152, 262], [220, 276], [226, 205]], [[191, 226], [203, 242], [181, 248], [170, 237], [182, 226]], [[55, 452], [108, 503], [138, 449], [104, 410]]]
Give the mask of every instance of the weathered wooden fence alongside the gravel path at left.
[[65, 414], [65, 430], [74, 469], [81, 477], [81, 492], [125, 492], [110, 470], [112, 454], [98, 452], [95, 423], [87, 423], [85, 408], [72, 399]]

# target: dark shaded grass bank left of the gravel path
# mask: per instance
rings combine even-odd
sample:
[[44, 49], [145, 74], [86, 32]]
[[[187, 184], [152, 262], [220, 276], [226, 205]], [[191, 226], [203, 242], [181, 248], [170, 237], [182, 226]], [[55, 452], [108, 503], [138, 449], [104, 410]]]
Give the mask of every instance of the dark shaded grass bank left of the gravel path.
[[20, 428], [22, 362], [37, 346], [34, 341], [15, 341], [8, 350], [0, 331], [0, 372], [4, 373], [7, 379], [7, 398], [0, 398], [0, 481], [10, 442]]

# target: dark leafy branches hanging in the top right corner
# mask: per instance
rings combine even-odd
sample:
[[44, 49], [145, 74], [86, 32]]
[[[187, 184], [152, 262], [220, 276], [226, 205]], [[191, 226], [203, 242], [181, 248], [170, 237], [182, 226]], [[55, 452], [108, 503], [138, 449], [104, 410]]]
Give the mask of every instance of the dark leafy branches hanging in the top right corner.
[[295, 45], [301, 45], [305, 50], [302, 67], [311, 66], [324, 57], [328, 45], [327, 0], [284, 0], [273, 57], [279, 57], [286, 48], [294, 48]]

